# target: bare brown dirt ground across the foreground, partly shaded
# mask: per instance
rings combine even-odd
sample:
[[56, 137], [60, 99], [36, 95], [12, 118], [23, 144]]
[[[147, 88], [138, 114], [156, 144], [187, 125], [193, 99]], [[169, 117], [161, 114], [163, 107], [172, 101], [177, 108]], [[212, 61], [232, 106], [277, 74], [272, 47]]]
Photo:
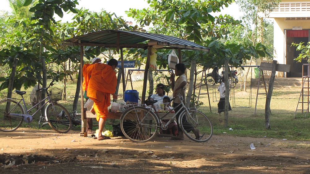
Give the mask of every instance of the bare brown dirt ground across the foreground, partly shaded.
[[[213, 135], [206, 143], [156, 137], [98, 141], [79, 132], [0, 132], [0, 173], [310, 173], [310, 142]], [[250, 149], [253, 143], [254, 150]], [[11, 162], [11, 164], [10, 164]], [[15, 164], [13, 164], [15, 162]]]

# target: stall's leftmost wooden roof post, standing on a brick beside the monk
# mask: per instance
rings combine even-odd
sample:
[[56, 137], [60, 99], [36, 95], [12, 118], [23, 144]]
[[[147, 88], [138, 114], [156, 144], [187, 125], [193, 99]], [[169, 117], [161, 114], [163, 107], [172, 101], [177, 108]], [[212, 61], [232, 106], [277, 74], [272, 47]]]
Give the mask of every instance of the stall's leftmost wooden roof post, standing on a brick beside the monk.
[[86, 115], [84, 115], [84, 94], [83, 94], [83, 58], [84, 58], [84, 46], [81, 46], [81, 51], [80, 51], [80, 81], [81, 81], [81, 120], [82, 120], [82, 130], [81, 133], [84, 134], [80, 134], [80, 135], [84, 135], [87, 136], [87, 130], [86, 130], [86, 126], [87, 126], [87, 118]]

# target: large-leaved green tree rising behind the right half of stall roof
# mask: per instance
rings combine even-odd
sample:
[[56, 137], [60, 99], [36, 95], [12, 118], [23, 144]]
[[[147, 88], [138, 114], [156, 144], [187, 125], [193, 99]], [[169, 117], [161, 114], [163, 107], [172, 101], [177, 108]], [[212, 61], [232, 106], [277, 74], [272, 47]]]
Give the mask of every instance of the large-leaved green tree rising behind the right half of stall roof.
[[[194, 69], [196, 65], [212, 67], [224, 65], [224, 60], [229, 60], [230, 65], [242, 65], [250, 55], [257, 56], [266, 50], [262, 45], [251, 44], [228, 44], [224, 45], [221, 39], [227, 39], [230, 30], [228, 26], [239, 25], [241, 21], [234, 20], [229, 15], [212, 16], [210, 12], [220, 12], [223, 6], [228, 7], [230, 0], [207, 1], [207, 0], [179, 0], [179, 1], [156, 1], [149, 0], [150, 7], [137, 10], [130, 9], [127, 15], [135, 18], [141, 26], [153, 24], [149, 31], [166, 34], [198, 44], [210, 47], [210, 52], [183, 51], [182, 60], [185, 65], [191, 67], [190, 84], [193, 84]], [[259, 48], [256, 52], [255, 48]], [[166, 67], [167, 51], [158, 50], [158, 62], [160, 67]], [[262, 52], [261, 52], [262, 51]], [[165, 55], [165, 56], [163, 56]], [[162, 61], [161, 59], [165, 59]], [[195, 65], [195, 66], [193, 66]], [[187, 101], [191, 99], [193, 86], [189, 87]], [[189, 103], [189, 102], [187, 102]]]

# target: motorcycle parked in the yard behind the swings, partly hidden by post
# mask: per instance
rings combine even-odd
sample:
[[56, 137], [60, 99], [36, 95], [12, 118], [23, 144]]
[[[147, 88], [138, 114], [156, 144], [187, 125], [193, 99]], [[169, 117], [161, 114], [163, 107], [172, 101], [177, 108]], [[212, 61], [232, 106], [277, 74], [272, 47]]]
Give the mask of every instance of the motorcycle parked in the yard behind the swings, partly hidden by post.
[[[219, 68], [217, 66], [214, 67], [211, 73], [208, 73], [205, 78], [205, 84], [215, 85], [221, 83], [221, 79], [223, 78], [225, 71], [222, 71], [222, 75], [219, 74]], [[228, 73], [228, 81], [230, 87], [235, 87], [238, 83], [238, 72], [237, 70], [231, 70]]]

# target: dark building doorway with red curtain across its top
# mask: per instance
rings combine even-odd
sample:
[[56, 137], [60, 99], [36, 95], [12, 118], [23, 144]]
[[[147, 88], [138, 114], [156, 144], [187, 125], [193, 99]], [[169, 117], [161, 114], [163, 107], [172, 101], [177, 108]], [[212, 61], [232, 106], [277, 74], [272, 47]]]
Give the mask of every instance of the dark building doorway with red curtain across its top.
[[[301, 51], [296, 51], [295, 46], [291, 46], [292, 43], [309, 42], [309, 30], [286, 30], [286, 64], [290, 65], [290, 72], [286, 74], [286, 77], [302, 77], [302, 65], [307, 64], [307, 60], [297, 62], [296, 59]], [[307, 75], [308, 69], [304, 69], [303, 74]]]

